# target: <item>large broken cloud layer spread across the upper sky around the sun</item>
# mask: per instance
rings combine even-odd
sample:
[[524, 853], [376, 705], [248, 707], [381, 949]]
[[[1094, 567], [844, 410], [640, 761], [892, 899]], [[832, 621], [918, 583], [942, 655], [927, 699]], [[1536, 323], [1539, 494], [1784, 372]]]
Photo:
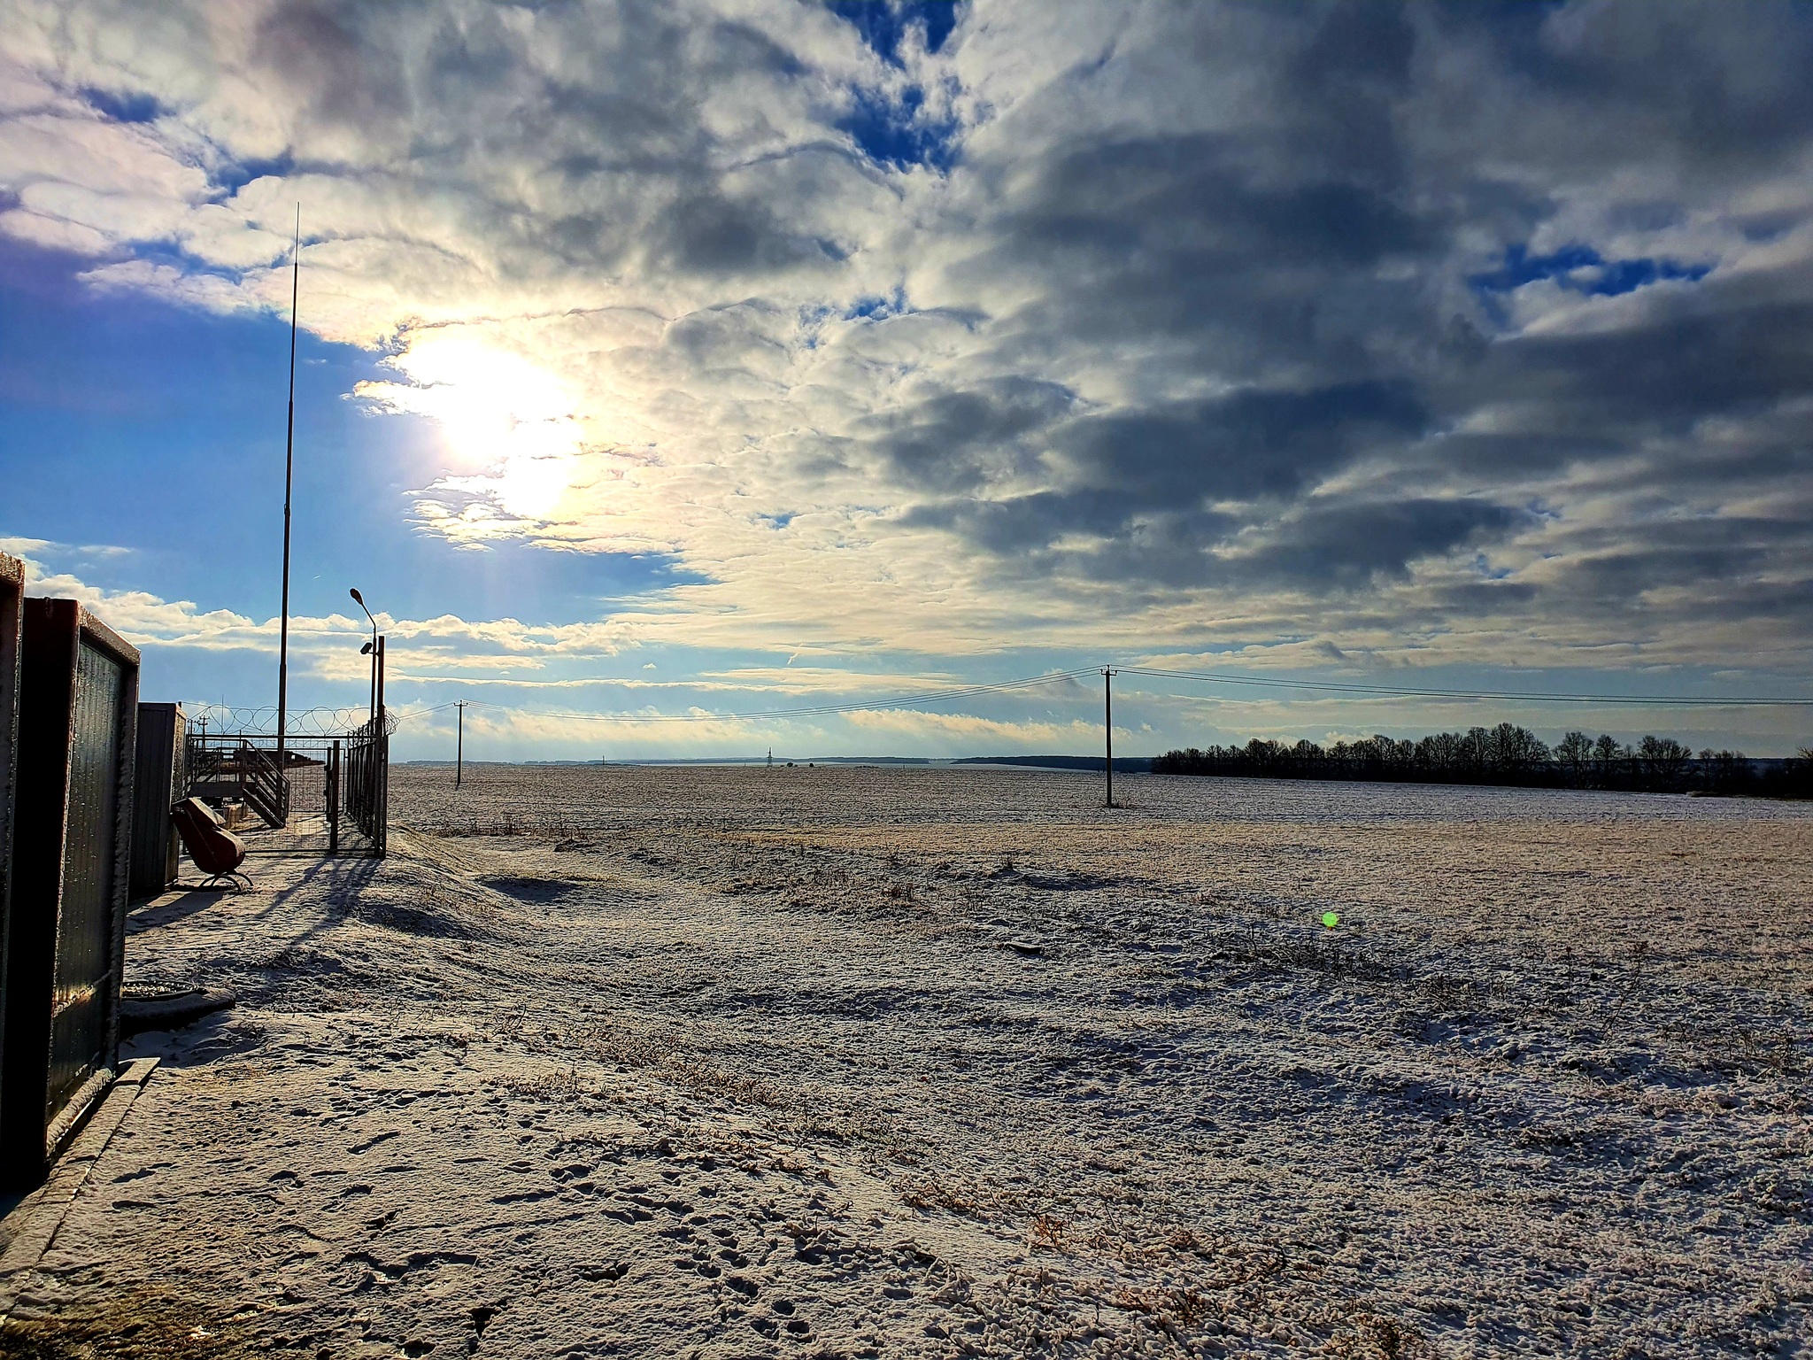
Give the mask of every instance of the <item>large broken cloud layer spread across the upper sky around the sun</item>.
[[1800, 7], [0, 20], [0, 230], [281, 306], [301, 199], [422, 531], [685, 571], [515, 646], [1809, 660]]

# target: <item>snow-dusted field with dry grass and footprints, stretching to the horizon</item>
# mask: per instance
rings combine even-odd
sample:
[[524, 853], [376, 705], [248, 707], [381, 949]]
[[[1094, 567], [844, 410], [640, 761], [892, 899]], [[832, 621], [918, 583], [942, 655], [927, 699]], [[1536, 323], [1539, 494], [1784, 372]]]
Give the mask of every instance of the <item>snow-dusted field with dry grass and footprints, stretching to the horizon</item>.
[[399, 769], [383, 865], [134, 916], [243, 1001], [4, 1342], [1804, 1353], [1808, 809], [1122, 792]]

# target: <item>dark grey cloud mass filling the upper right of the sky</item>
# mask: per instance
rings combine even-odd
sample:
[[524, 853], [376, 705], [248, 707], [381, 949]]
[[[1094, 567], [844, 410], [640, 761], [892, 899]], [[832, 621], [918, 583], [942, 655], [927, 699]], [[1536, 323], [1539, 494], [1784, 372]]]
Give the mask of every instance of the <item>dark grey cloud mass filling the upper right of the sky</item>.
[[[1111, 408], [1012, 432], [1042, 490], [990, 491], [961, 439], [914, 444], [894, 464], [932, 499], [903, 520], [1057, 588], [1401, 595], [1414, 564], [1487, 549], [1528, 577], [1429, 598], [1575, 618], [1650, 598], [1684, 620], [1769, 575], [1798, 598], [1813, 526], [1721, 502], [1806, 475], [1806, 426], [1780, 419], [1813, 403], [1806, 250], [1733, 265], [1813, 221], [1786, 190], [1813, 149], [1813, 11], [1262, 15], [1273, 62], [1220, 127], [1084, 131], [974, 167], [1003, 207], [954, 274], [1044, 283], [992, 317], [992, 357], [1148, 357]], [[1213, 98], [1227, 13], [1168, 20]], [[1568, 317], [1570, 296], [1599, 312]], [[1197, 374], [1233, 390], [1166, 395]]]

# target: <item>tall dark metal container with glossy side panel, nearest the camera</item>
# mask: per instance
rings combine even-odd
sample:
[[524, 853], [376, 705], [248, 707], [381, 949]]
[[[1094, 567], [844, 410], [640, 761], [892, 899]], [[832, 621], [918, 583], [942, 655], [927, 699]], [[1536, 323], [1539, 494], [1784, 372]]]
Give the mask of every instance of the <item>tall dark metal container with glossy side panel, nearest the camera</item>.
[[132, 856], [138, 649], [74, 600], [25, 600], [0, 1177], [44, 1180], [107, 1092]]

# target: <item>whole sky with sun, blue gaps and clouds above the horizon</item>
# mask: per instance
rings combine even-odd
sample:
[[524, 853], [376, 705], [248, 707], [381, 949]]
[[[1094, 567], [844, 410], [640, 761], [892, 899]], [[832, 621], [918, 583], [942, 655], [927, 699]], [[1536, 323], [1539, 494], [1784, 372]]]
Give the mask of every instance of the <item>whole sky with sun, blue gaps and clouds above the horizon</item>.
[[[399, 758], [1813, 696], [1813, 5], [0, 0], [0, 551]], [[847, 713], [767, 711], [872, 704]], [[1115, 749], [1813, 707], [1126, 675]]]

